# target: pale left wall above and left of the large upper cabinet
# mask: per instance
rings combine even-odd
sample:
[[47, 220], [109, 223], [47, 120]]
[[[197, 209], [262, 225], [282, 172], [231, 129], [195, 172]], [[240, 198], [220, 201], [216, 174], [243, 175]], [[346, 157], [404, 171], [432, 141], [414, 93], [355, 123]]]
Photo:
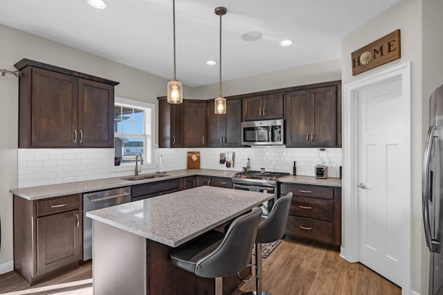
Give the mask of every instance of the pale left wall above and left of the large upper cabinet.
[[[156, 103], [165, 95], [167, 79], [109, 61], [81, 50], [0, 25], [0, 68], [15, 70], [22, 58], [42, 61], [62, 68], [104, 77], [120, 82], [115, 94], [144, 102]], [[185, 88], [184, 91], [188, 91]], [[2, 263], [12, 260], [12, 195], [17, 188], [18, 79], [0, 76], [0, 218]], [[10, 264], [8, 264], [10, 265]]]

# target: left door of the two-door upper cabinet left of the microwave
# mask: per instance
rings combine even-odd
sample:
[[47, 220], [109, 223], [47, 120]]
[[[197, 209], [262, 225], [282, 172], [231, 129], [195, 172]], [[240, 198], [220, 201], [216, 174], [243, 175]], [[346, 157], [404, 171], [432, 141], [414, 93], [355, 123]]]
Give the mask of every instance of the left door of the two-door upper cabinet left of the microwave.
[[[227, 104], [228, 103], [229, 101], [227, 102]], [[224, 137], [226, 136], [226, 115], [217, 115], [214, 113], [214, 99], [211, 99], [206, 103], [206, 114], [208, 117], [207, 146], [224, 146]], [[228, 114], [228, 111], [226, 111], [226, 114]]]

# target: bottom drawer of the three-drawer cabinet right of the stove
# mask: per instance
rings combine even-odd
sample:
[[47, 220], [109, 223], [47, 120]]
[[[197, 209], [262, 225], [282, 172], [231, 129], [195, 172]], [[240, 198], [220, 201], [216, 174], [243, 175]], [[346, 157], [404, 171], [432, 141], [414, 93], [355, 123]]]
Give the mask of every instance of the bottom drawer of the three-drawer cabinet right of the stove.
[[287, 236], [293, 238], [306, 238], [319, 242], [334, 242], [334, 227], [329, 221], [288, 216], [286, 224]]

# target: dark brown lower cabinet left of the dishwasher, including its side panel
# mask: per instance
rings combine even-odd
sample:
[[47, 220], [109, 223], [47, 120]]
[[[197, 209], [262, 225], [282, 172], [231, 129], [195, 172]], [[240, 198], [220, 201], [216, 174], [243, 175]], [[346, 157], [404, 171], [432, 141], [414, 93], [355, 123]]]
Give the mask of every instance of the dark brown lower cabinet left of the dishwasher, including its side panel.
[[14, 196], [14, 269], [33, 284], [82, 259], [82, 202], [75, 194], [26, 200]]

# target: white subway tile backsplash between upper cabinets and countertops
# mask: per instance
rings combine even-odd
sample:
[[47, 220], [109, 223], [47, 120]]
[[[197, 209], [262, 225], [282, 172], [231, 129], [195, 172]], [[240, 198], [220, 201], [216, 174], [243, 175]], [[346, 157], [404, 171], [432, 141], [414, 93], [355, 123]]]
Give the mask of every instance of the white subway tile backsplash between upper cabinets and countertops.
[[[201, 169], [241, 171], [251, 160], [251, 169], [292, 173], [297, 162], [298, 175], [314, 175], [314, 166], [323, 161], [329, 166], [329, 177], [338, 177], [341, 149], [298, 149], [283, 146], [253, 146], [251, 148], [154, 149], [154, 169], [142, 166], [142, 173], [186, 169], [188, 151], [200, 151]], [[219, 154], [235, 152], [235, 166], [219, 164]], [[320, 156], [322, 159], [320, 159]], [[19, 149], [19, 187], [95, 180], [132, 175], [133, 169], [116, 171], [112, 158], [114, 149]], [[161, 160], [160, 160], [161, 159]]]

